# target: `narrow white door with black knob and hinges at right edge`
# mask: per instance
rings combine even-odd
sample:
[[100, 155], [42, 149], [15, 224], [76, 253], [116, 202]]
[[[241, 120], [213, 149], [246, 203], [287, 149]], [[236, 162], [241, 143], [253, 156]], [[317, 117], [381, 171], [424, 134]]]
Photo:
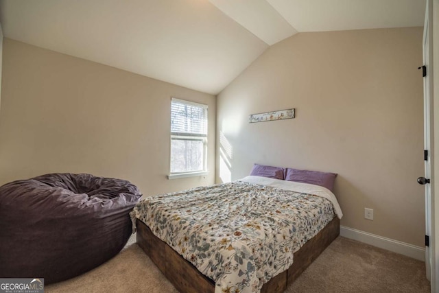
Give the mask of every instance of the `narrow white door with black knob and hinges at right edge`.
[[[431, 125], [433, 125], [432, 115], [431, 115], [431, 91], [430, 91], [430, 75], [431, 75], [431, 23], [429, 22], [429, 3], [427, 1], [427, 7], [425, 12], [425, 24], [424, 24], [424, 37], [423, 37], [423, 80], [424, 80], [424, 163], [425, 163], [425, 174], [423, 177], [418, 178], [418, 183], [425, 185], [425, 269], [427, 273], [427, 279], [431, 281], [431, 264], [434, 261], [431, 258]], [[434, 277], [434, 276], [433, 276]]]

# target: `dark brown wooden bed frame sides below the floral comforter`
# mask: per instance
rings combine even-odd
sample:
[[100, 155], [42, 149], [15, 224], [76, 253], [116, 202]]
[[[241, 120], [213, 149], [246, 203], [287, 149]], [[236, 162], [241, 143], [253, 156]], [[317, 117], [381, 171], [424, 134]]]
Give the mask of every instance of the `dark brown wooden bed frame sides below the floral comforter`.
[[[296, 253], [294, 262], [281, 274], [265, 283], [261, 292], [284, 292], [287, 286], [333, 242], [340, 234], [340, 220], [335, 216], [322, 231], [309, 239]], [[215, 282], [204, 276], [189, 261], [176, 253], [168, 244], [154, 235], [150, 228], [137, 219], [137, 244], [180, 292], [215, 292]]]

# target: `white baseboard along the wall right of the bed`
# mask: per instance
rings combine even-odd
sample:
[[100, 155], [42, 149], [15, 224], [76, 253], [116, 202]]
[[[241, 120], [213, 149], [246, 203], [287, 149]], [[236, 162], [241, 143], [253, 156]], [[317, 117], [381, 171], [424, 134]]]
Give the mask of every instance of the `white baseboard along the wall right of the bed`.
[[398, 240], [382, 237], [372, 233], [367, 233], [354, 228], [340, 226], [340, 236], [357, 240], [372, 246], [393, 251], [407, 257], [425, 261], [425, 248], [401, 242]]

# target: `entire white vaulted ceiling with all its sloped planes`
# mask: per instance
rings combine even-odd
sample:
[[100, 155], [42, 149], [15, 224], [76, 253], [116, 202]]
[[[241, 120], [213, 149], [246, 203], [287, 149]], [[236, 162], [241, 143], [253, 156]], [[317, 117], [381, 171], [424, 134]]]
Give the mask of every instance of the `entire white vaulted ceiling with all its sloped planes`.
[[422, 26], [425, 0], [1, 0], [7, 38], [171, 82], [222, 91], [296, 34]]

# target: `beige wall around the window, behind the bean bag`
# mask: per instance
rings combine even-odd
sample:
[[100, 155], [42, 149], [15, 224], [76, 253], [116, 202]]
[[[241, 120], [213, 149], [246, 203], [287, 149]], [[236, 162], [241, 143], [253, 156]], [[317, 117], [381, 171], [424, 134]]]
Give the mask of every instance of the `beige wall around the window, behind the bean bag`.
[[[208, 176], [166, 178], [171, 96], [209, 105]], [[4, 39], [0, 184], [88, 172], [152, 195], [212, 184], [214, 163], [215, 96]]]

